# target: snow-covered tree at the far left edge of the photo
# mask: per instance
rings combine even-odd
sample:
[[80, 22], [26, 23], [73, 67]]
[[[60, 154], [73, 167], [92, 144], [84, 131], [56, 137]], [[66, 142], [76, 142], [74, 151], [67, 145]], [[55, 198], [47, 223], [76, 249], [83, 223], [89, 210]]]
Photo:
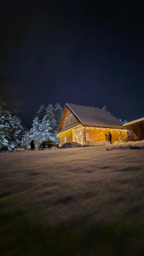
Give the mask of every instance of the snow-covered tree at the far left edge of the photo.
[[21, 145], [24, 127], [21, 120], [10, 111], [0, 111], [0, 148], [12, 150]]

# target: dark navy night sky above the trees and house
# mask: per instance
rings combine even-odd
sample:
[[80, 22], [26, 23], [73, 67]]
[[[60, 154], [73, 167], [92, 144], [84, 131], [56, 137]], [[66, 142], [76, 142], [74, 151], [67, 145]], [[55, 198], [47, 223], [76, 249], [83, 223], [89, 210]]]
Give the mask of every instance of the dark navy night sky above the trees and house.
[[143, 1], [3, 3], [1, 67], [25, 126], [58, 102], [144, 117], [143, 11]]

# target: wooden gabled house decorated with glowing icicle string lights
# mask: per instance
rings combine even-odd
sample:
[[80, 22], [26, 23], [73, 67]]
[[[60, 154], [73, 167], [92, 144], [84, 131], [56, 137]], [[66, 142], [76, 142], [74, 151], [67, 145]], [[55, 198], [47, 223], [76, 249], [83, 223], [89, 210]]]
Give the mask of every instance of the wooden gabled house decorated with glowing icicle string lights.
[[119, 136], [126, 135], [122, 122], [106, 110], [65, 104], [57, 132], [61, 145], [65, 142], [78, 142], [84, 145], [86, 141], [108, 140], [108, 132], [112, 134], [112, 143], [119, 140]]

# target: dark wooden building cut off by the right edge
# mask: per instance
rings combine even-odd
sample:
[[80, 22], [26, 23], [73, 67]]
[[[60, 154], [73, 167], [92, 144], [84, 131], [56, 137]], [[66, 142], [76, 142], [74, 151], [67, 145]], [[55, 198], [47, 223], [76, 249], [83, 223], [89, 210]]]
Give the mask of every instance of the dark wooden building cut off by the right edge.
[[124, 123], [123, 127], [128, 130], [129, 140], [143, 140], [144, 139], [144, 117]]

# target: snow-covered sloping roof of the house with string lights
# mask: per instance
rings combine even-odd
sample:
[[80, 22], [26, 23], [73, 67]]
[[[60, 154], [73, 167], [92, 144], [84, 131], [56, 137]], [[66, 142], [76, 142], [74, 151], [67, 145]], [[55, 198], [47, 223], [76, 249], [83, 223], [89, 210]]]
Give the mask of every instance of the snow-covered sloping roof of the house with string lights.
[[66, 106], [84, 126], [123, 128], [122, 122], [106, 110], [66, 103]]

